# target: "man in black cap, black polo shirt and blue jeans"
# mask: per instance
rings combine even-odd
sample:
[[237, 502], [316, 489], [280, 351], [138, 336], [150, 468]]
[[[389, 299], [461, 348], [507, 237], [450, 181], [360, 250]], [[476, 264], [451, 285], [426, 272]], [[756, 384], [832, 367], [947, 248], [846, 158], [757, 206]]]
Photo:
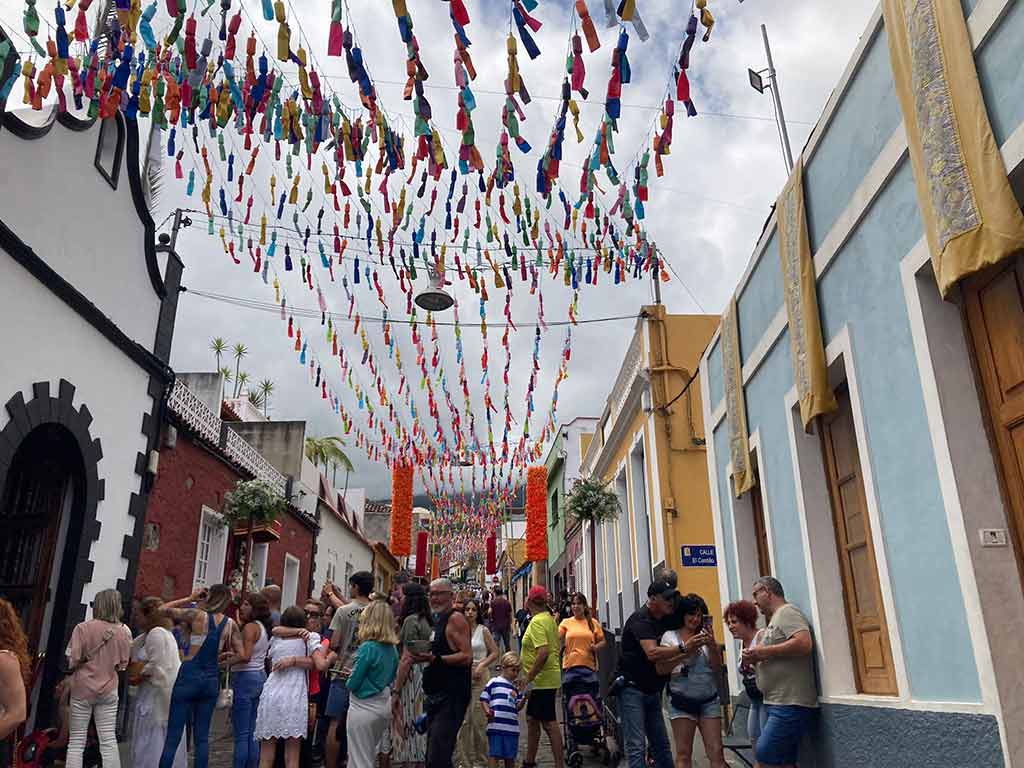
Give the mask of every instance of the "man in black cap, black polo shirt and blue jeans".
[[687, 643], [660, 646], [662, 636], [674, 629], [679, 602], [675, 572], [660, 573], [647, 588], [647, 603], [635, 610], [623, 627], [618, 657], [618, 710], [629, 768], [645, 768], [649, 745], [654, 768], [673, 768], [672, 746], [662, 712], [662, 693], [669, 674], [693, 648]]

